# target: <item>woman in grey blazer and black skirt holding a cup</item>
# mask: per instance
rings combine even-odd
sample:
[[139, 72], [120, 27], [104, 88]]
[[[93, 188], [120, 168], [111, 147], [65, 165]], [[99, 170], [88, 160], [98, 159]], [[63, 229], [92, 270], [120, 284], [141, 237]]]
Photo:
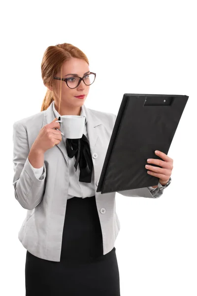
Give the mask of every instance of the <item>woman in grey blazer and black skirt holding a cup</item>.
[[[120, 296], [115, 192], [96, 192], [116, 115], [84, 105], [96, 74], [72, 44], [49, 46], [41, 72], [48, 88], [41, 112], [13, 125], [15, 198], [28, 210], [19, 231], [27, 249], [26, 296]], [[78, 161], [78, 142], [64, 138], [56, 122], [66, 114], [85, 116]], [[168, 185], [172, 159], [159, 155], [164, 169], [152, 166], [149, 172]], [[163, 189], [118, 192], [156, 198]]]

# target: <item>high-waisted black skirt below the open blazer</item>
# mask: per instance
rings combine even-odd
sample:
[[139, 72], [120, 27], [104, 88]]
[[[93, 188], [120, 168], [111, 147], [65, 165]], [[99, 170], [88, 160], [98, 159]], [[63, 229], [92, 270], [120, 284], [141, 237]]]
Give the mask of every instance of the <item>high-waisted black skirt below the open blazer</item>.
[[60, 262], [27, 251], [26, 296], [120, 296], [115, 247], [103, 255], [95, 195], [67, 200]]

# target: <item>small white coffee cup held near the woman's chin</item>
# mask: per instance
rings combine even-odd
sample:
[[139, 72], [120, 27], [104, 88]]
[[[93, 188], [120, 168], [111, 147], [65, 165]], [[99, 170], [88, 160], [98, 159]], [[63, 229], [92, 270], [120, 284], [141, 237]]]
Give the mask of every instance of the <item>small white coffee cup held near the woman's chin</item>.
[[83, 130], [86, 117], [84, 115], [62, 115], [61, 120], [61, 134], [68, 139], [80, 139], [83, 136]]

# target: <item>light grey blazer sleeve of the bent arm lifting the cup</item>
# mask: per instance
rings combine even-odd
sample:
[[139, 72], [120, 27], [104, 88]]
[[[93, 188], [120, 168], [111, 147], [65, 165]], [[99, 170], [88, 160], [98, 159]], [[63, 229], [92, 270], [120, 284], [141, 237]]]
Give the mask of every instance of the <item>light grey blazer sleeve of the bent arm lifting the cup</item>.
[[40, 179], [37, 179], [33, 166], [28, 159], [29, 152], [27, 131], [21, 123], [15, 122], [13, 124], [13, 186], [15, 198], [24, 209], [32, 210], [43, 197], [46, 167], [44, 164], [43, 173]]

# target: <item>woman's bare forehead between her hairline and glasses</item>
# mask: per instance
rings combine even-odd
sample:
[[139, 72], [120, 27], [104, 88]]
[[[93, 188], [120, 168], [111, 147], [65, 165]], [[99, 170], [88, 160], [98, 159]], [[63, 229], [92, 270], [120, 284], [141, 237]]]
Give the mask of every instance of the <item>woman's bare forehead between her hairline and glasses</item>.
[[71, 58], [63, 64], [62, 74], [78, 74], [83, 75], [89, 71], [89, 65], [86, 61], [77, 58]]

